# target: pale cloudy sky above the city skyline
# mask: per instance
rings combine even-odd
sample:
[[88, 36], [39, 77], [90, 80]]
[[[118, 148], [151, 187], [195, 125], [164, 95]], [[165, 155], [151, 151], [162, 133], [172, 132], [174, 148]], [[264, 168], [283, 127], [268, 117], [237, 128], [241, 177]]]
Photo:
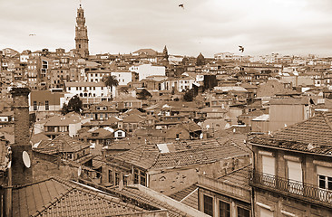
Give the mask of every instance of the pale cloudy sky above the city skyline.
[[[332, 0], [82, 0], [90, 54], [332, 56]], [[183, 4], [184, 8], [179, 5]], [[0, 50], [74, 48], [79, 0], [0, 0]], [[34, 36], [29, 36], [35, 34]], [[239, 52], [239, 45], [245, 51]]]

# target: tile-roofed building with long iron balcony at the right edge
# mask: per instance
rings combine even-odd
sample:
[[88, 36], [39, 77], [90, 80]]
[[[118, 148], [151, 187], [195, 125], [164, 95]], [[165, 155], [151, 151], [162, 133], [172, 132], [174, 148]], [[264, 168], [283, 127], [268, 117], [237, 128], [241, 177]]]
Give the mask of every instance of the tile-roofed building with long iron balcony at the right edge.
[[254, 216], [331, 216], [331, 113], [253, 137]]

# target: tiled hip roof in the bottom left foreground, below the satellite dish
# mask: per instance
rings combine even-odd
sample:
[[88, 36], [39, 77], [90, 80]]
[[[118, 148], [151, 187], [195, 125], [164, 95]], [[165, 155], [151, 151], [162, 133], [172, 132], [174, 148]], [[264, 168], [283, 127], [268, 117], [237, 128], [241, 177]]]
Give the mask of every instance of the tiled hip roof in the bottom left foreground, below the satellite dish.
[[144, 211], [97, 189], [51, 178], [13, 189], [13, 216], [111, 216]]

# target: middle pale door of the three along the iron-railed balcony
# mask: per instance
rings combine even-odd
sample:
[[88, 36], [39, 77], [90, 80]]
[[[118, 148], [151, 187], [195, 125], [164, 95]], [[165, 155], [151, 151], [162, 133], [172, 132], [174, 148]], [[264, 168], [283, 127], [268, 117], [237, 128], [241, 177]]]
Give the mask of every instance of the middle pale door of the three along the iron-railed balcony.
[[303, 175], [300, 162], [288, 161], [288, 191], [303, 194]]

